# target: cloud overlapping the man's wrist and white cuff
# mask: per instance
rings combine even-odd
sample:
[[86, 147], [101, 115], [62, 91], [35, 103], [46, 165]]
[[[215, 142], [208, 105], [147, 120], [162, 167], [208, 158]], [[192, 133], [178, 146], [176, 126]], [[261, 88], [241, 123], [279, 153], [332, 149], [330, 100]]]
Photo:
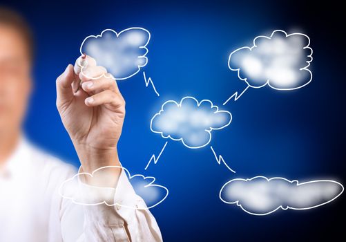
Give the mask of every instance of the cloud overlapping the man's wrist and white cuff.
[[[108, 180], [108, 176], [113, 176], [110, 173], [112, 169], [121, 169], [117, 187], [99, 187], [97, 185], [87, 185], [81, 183], [84, 176], [89, 176], [93, 184], [99, 184]], [[127, 176], [127, 178], [126, 178]], [[121, 194], [121, 198], [117, 196]], [[59, 187], [59, 194], [63, 198], [73, 201], [79, 205], [100, 205], [128, 207], [134, 210], [146, 210], [155, 207], [162, 203], [169, 195], [169, 190], [155, 184], [153, 176], [143, 176], [135, 174], [131, 176], [130, 172], [124, 167], [108, 166], [100, 167], [89, 173], [78, 173], [72, 178], [64, 181]], [[133, 197], [135, 194], [136, 197]], [[115, 198], [119, 201], [115, 201]]]

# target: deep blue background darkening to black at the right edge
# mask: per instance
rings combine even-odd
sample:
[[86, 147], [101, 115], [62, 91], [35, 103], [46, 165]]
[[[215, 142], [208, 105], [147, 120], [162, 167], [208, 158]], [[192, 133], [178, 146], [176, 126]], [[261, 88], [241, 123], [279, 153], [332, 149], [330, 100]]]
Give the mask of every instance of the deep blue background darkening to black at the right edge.
[[[105, 28], [140, 26], [152, 37], [144, 71], [161, 96], [145, 87], [142, 73], [119, 82], [126, 99], [119, 156], [133, 174], [155, 176], [169, 188], [166, 201], [151, 210], [164, 241], [314, 241], [341, 234], [336, 221], [343, 218], [345, 195], [314, 210], [280, 210], [269, 216], [249, 215], [218, 198], [228, 180], [258, 175], [300, 181], [331, 178], [345, 185], [345, 39], [340, 37], [340, 7], [328, 3], [315, 2], [314, 10], [301, 1], [8, 3], [26, 16], [37, 41], [26, 133], [59, 158], [79, 165], [55, 108], [55, 79], [75, 62], [86, 36]], [[161, 104], [192, 95], [222, 106], [246, 86], [227, 68], [229, 53], [275, 29], [309, 35], [314, 78], [296, 91], [249, 89], [224, 106], [233, 121], [213, 132], [211, 145], [236, 174], [218, 165], [209, 147], [193, 150], [173, 141], [157, 165], [144, 171], [166, 141], [149, 129]]]

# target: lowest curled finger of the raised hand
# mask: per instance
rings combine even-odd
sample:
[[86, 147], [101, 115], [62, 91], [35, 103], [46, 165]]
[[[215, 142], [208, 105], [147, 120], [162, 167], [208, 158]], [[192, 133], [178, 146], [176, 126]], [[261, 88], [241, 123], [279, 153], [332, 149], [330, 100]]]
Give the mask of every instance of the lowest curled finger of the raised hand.
[[124, 111], [125, 101], [120, 93], [115, 93], [110, 90], [102, 91], [101, 93], [97, 93], [91, 97], [86, 98], [85, 100], [86, 106], [99, 106], [103, 104], [109, 104], [109, 106], [113, 109], [122, 109]]

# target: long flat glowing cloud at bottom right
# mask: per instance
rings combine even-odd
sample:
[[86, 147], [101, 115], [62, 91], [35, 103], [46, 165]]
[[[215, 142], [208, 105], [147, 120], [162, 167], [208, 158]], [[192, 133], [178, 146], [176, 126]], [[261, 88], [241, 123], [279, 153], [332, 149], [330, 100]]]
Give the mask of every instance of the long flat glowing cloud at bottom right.
[[285, 178], [256, 176], [237, 178], [224, 184], [220, 199], [236, 204], [249, 214], [267, 215], [276, 210], [309, 210], [334, 201], [344, 191], [334, 180], [311, 180], [299, 183]]

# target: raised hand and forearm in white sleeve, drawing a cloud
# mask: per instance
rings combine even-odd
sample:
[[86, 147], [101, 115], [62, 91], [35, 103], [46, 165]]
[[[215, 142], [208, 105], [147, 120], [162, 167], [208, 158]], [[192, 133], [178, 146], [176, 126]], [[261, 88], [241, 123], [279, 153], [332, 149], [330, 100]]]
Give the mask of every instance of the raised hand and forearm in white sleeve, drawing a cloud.
[[[84, 58], [89, 77], [75, 73], [69, 65], [57, 79], [57, 108], [81, 162], [75, 185], [79, 190], [71, 194], [73, 201], [85, 205], [81, 241], [162, 241], [155, 218], [133, 191], [119, 162], [124, 98], [114, 80], [95, 79], [100, 72], [107, 74], [106, 69], [93, 58]], [[76, 79], [84, 84], [73, 91]]]

